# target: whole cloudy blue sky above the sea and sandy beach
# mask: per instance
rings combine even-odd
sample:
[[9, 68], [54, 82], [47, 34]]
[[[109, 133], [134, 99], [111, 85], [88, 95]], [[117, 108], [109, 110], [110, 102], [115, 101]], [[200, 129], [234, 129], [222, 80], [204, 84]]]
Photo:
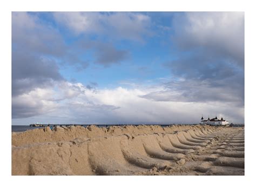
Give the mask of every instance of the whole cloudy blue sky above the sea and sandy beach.
[[244, 12], [12, 12], [12, 125], [244, 123]]

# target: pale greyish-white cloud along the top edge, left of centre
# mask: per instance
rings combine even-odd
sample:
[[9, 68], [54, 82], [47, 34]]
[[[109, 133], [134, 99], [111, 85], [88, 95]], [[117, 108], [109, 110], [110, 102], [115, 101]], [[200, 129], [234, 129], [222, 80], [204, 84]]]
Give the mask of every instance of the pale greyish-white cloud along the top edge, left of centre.
[[68, 27], [75, 34], [103, 34], [111, 39], [119, 37], [137, 41], [151, 34], [148, 30], [150, 17], [142, 13], [55, 12], [53, 16], [57, 23]]

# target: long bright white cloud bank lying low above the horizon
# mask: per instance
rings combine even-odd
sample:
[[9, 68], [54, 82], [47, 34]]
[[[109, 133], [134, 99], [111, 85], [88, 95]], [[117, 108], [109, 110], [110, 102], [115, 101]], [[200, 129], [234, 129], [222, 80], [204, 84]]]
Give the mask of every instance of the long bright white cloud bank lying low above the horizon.
[[[80, 83], [63, 82], [56, 86], [58, 89], [37, 89], [18, 96], [13, 103], [23, 106], [23, 111], [33, 109], [35, 116], [41, 114], [37, 119], [47, 120], [45, 123], [197, 123], [202, 113], [210, 117], [221, 115], [234, 122], [243, 122], [244, 117], [244, 108], [227, 107], [223, 102], [163, 102], [142, 98], [142, 95], [152, 92], [151, 87], [92, 91]], [[161, 89], [163, 87], [157, 88]], [[19, 123], [28, 120], [20, 119]]]

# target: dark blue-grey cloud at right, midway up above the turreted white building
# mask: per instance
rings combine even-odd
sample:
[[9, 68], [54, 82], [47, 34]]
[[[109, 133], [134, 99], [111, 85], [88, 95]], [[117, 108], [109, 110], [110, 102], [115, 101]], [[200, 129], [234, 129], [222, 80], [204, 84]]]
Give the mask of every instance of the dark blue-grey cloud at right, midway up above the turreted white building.
[[165, 64], [177, 77], [218, 80], [243, 73], [241, 67], [228, 58], [199, 50]]

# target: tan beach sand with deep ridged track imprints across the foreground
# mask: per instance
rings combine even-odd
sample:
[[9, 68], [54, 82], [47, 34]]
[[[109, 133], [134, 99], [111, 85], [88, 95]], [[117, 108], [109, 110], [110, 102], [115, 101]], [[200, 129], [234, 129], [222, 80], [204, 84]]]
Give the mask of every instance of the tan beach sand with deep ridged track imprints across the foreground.
[[244, 128], [89, 126], [12, 133], [12, 175], [244, 175]]

